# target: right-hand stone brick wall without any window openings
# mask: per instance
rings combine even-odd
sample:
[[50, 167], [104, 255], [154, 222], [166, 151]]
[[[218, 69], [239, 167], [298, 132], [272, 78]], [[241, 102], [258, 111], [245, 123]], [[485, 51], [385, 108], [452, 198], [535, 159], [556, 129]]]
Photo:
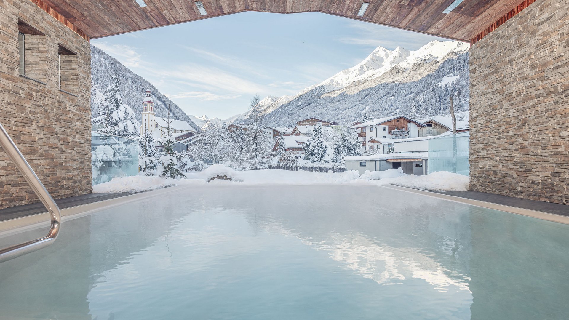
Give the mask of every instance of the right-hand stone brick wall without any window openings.
[[472, 190], [569, 204], [568, 9], [534, 2], [471, 47]]

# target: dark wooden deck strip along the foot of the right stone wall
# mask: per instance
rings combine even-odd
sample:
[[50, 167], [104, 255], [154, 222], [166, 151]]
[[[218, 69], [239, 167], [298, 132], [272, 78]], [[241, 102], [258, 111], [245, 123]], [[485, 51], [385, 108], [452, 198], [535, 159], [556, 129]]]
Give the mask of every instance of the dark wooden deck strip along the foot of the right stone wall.
[[503, 206], [541, 211], [548, 214], [569, 216], [569, 206], [567, 204], [527, 200], [522, 198], [514, 198], [512, 196], [488, 194], [486, 192], [479, 191], [440, 191], [437, 193], [494, 204], [501, 204]]

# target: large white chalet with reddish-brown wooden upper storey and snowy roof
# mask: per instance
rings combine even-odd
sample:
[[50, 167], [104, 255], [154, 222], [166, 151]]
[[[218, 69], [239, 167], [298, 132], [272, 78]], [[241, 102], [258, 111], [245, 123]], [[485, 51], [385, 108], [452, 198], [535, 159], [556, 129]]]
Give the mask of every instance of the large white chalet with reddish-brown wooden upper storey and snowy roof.
[[406, 116], [394, 115], [390, 117], [377, 118], [360, 124], [352, 125], [350, 128], [357, 130], [357, 135], [361, 140], [362, 151], [370, 150], [368, 142], [371, 142], [372, 149], [378, 146], [381, 139], [406, 139], [419, 136], [419, 128], [424, 127], [422, 122], [413, 120]]

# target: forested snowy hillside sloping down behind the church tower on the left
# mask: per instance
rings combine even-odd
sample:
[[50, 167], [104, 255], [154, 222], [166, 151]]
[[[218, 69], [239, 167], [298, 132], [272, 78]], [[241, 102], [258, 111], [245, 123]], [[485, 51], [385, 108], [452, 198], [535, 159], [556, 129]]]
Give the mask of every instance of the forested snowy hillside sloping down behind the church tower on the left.
[[91, 46], [91, 68], [93, 83], [96, 85], [96, 88], [92, 89], [91, 95], [91, 113], [93, 117], [98, 115], [98, 105], [100, 105], [98, 102], [104, 99], [101, 96], [101, 92], [105, 92], [105, 89], [112, 82], [111, 77], [118, 72], [121, 78], [119, 89], [121, 90], [122, 102], [133, 109], [138, 121], [141, 121], [142, 118], [142, 99], [145, 96], [146, 89], [150, 89], [154, 97], [156, 116], [168, 117], [167, 106], [170, 106], [171, 118], [187, 121], [196, 130], [201, 128], [178, 105], [158, 92], [154, 85], [94, 46]]

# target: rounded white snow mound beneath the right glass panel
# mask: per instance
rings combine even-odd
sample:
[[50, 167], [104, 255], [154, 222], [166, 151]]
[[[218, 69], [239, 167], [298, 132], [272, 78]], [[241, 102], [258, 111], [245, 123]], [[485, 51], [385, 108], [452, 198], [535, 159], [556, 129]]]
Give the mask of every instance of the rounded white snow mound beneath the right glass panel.
[[405, 175], [389, 179], [389, 184], [431, 191], [467, 191], [470, 187], [467, 176], [448, 171], [436, 171], [427, 175]]

